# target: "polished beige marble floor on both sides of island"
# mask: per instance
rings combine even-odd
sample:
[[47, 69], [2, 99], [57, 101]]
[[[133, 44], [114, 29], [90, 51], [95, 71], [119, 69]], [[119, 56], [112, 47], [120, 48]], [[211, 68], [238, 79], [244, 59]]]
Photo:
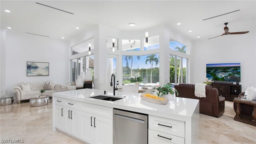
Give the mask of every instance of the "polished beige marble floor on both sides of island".
[[[256, 127], [234, 121], [233, 102], [225, 102], [220, 118], [200, 114], [200, 144], [256, 144]], [[29, 102], [0, 107], [0, 139], [20, 139], [25, 144], [81, 144], [59, 131], [52, 131], [52, 100], [47, 106]]]

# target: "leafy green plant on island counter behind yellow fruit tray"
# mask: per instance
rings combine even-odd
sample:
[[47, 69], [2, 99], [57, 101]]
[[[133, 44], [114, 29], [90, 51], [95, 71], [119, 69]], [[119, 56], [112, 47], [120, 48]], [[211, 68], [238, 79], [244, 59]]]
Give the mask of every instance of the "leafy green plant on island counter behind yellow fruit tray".
[[156, 94], [159, 97], [164, 96], [164, 94], [174, 94], [174, 93], [176, 93], [178, 96], [178, 91], [175, 88], [172, 88], [171, 85], [172, 85], [171, 83], [167, 83], [164, 86], [154, 87], [153, 92], [155, 92], [155, 90], [158, 90]]

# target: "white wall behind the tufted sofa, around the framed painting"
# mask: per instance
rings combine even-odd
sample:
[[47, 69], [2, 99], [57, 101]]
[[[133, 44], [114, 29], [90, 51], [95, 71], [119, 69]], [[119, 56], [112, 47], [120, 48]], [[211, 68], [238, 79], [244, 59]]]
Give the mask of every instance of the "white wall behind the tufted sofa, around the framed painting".
[[[12, 92], [19, 82], [53, 80], [66, 84], [68, 79], [68, 42], [26, 33], [6, 32], [6, 90]], [[26, 76], [26, 64], [49, 62], [49, 76]]]

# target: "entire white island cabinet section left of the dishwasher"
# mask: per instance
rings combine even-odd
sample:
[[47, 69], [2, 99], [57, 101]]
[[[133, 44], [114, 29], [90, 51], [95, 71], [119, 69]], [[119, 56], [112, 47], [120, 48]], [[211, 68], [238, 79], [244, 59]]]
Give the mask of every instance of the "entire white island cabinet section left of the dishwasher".
[[55, 97], [55, 127], [90, 144], [113, 143], [113, 108]]

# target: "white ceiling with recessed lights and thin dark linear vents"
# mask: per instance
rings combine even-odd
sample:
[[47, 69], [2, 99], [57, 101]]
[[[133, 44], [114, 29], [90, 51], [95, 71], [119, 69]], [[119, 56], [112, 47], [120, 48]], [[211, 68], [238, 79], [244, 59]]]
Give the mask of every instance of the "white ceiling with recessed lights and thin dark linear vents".
[[[36, 2], [59, 8], [68, 14], [41, 6]], [[70, 40], [91, 29], [104, 25], [121, 32], [143, 31], [160, 25], [185, 34], [192, 40], [212, 38], [224, 33], [224, 23], [229, 22], [230, 32], [253, 31], [256, 24], [256, 1], [0, 1], [1, 28], [30, 32], [51, 38]], [[147, 4], [147, 12], [146, 12]], [[90, 7], [89, 7], [90, 5]], [[210, 20], [203, 19], [238, 10]], [[10, 10], [11, 12], [5, 12]], [[147, 14], [147, 20], [146, 20]], [[181, 25], [177, 25], [180, 22]], [[76, 29], [79, 27], [80, 29]], [[192, 30], [192, 32], [188, 32]], [[200, 36], [200, 38], [197, 38]], [[242, 35], [240, 35], [242, 36]], [[220, 38], [220, 37], [219, 37]]]

